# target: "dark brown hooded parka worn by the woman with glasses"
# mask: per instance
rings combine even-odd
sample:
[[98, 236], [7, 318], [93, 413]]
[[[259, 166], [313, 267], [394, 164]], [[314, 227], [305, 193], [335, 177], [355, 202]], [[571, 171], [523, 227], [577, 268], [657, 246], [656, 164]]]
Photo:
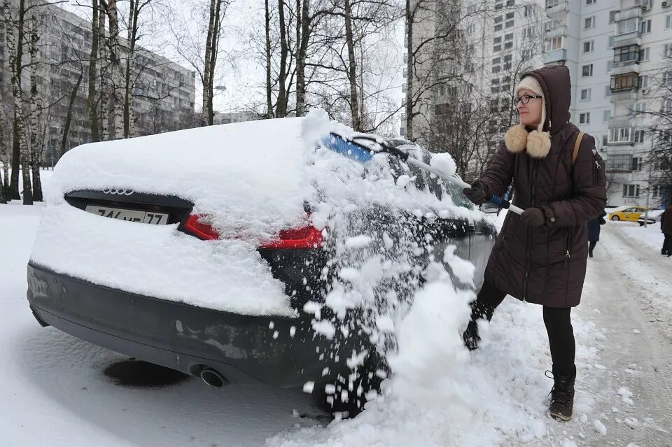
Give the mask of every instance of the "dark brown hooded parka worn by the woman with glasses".
[[569, 122], [567, 67], [544, 67], [525, 76], [533, 76], [543, 90], [542, 132], [527, 134], [520, 125], [512, 127], [481, 181], [501, 197], [513, 180], [513, 203], [524, 209], [540, 208], [545, 224], [531, 227], [517, 214], [508, 213], [485, 279], [524, 301], [577, 306], [586, 275], [586, 222], [600, 215], [606, 204], [604, 163], [594, 138], [586, 134], [572, 164], [579, 129]]

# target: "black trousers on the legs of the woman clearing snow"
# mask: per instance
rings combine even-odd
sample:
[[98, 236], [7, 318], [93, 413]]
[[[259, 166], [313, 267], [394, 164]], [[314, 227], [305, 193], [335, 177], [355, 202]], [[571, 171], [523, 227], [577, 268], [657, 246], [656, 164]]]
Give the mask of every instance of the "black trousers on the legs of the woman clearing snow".
[[[476, 320], [486, 318], [490, 321], [495, 308], [501, 304], [505, 296], [504, 292], [491, 283], [486, 281], [483, 284], [476, 301], [471, 304], [471, 321], [464, 333], [465, 343], [469, 348], [475, 348], [479, 341]], [[573, 376], [576, 372], [574, 366], [576, 344], [570, 318], [571, 310], [570, 307], [544, 306], [544, 324], [548, 333], [555, 376]]]

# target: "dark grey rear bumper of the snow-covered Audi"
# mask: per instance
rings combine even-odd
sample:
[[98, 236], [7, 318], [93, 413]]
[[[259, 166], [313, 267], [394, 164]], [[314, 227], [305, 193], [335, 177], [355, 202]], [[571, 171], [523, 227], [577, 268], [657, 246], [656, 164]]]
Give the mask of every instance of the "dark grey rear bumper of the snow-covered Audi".
[[214, 311], [94, 285], [33, 264], [27, 297], [43, 325], [186, 374], [207, 366], [230, 382], [293, 387], [319, 380], [325, 367], [316, 354], [324, 341], [313, 339], [309, 315]]

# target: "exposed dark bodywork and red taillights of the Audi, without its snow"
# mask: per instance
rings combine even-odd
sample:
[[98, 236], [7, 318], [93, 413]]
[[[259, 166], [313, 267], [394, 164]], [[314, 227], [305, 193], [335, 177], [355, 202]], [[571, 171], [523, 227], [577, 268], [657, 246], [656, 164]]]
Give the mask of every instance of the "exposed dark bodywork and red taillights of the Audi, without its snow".
[[[262, 125], [261, 122], [259, 126]], [[332, 135], [332, 141], [339, 138]], [[400, 148], [411, 147], [403, 140], [391, 143]], [[336, 144], [352, 143], [343, 138]], [[99, 143], [102, 146], [99, 150], [104, 150], [105, 145]], [[429, 152], [417, 147], [410, 155], [421, 157], [425, 162], [431, 157]], [[417, 193], [438, 199], [449, 195], [454, 204], [477, 213], [461, 191], [398, 158], [390, 155], [387, 159], [395, 180], [407, 175]], [[187, 237], [190, 244], [208, 244], [221, 236], [200, 215], [193, 213], [193, 201], [175, 194], [131, 190], [125, 184], [109, 186], [104, 190], [67, 191], [60, 206], [99, 215], [88, 218], [90, 222], [117, 218], [132, 221], [119, 225], [174, 225], [174, 232], [181, 233], [181, 237], [193, 237]], [[313, 206], [307, 197], [304, 201], [307, 215]], [[48, 208], [49, 205], [45, 212]], [[349, 215], [357, 216], [353, 220], [356, 225], [388, 228], [388, 233], [394, 234], [395, 226], [400, 225], [399, 212], [393, 206], [371, 206], [349, 211]], [[136, 215], [139, 217], [134, 218]], [[447, 244], [457, 246], [456, 255], [475, 264], [475, 278], [482, 278], [495, 236], [491, 224], [484, 219], [475, 221], [446, 215], [442, 218], [438, 212], [435, 218], [405, 215], [404, 225], [412, 225], [413, 238], [430, 243], [439, 251]], [[149, 231], [148, 227], [143, 228]], [[333, 343], [314, 332], [315, 315], [304, 311], [308, 302], [323, 302], [337, 275], [337, 266], [333, 265], [331, 273], [325, 274], [325, 266], [334, 259], [334, 251], [331, 239], [323, 237], [324, 234], [311, 226], [289, 229], [258, 247], [273, 277], [283, 283], [295, 315], [244, 315], [186, 304], [179, 299], [153, 297], [151, 293], [129, 292], [123, 287], [110, 287], [78, 277], [58, 265], [44, 265], [33, 257], [28, 265], [27, 298], [36, 320], [43, 326], [56, 327], [124, 355], [201, 376], [209, 385], [261, 382], [288, 388], [301, 387], [311, 381], [328, 383], [345, 374], [344, 358], [339, 362], [332, 358], [332, 367], [325, 374], [325, 358], [318, 353], [333, 350]], [[40, 243], [38, 239], [37, 244]], [[85, 246], [76, 248], [79, 252], [87, 249]], [[117, 250], [114, 246], [107, 249]], [[123, 249], [118, 250], [119, 262], [124, 262]], [[62, 255], [67, 257], [68, 253]], [[427, 262], [424, 255], [416, 260]], [[414, 283], [411, 288], [418, 286], [419, 283]], [[365, 346], [367, 337], [359, 335], [360, 339], [350, 337], [347, 343]], [[340, 349], [345, 352], [345, 346]], [[371, 352], [371, 358], [360, 368], [379, 367], [374, 350]]]

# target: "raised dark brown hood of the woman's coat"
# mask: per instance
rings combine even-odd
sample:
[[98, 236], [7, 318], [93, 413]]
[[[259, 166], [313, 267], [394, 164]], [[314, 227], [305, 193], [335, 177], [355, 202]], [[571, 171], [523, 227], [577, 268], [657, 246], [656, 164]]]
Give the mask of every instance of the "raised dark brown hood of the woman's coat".
[[545, 66], [529, 71], [522, 77], [532, 76], [543, 90], [546, 103], [546, 119], [543, 131], [555, 134], [569, 122], [569, 106], [572, 102], [572, 83], [569, 69], [563, 65]]

